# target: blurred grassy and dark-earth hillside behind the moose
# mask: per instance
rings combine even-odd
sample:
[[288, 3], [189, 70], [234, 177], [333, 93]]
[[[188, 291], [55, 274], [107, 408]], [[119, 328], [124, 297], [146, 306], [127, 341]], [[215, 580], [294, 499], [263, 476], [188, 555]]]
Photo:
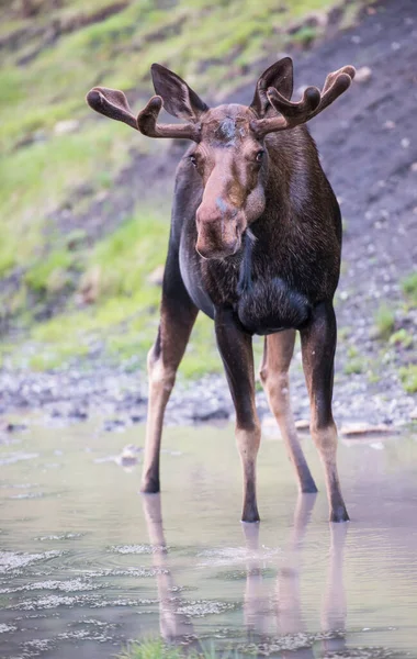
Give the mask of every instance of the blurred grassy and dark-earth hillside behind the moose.
[[[408, 421], [417, 390], [413, 0], [33, 0], [0, 9], [5, 403], [8, 382], [30, 378], [27, 369], [142, 369], [156, 332], [167, 190], [182, 146], [93, 115], [86, 92], [121, 88], [139, 109], [157, 60], [213, 102], [248, 102], [259, 72], [291, 52], [296, 87], [320, 85], [342, 64], [362, 69], [346, 99], [312, 126], [345, 224], [340, 409], [353, 396], [345, 415], [361, 415], [367, 394], [375, 418]], [[182, 373], [219, 368], [202, 319]]]

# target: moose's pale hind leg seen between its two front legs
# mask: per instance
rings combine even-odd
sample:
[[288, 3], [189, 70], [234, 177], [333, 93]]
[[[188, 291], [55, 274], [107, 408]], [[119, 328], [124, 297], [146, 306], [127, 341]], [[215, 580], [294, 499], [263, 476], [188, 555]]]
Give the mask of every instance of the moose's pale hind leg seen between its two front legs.
[[285, 330], [264, 338], [259, 376], [270, 410], [280, 426], [290, 460], [294, 465], [301, 492], [317, 492], [297, 437], [290, 399], [289, 368], [294, 351], [295, 330]]

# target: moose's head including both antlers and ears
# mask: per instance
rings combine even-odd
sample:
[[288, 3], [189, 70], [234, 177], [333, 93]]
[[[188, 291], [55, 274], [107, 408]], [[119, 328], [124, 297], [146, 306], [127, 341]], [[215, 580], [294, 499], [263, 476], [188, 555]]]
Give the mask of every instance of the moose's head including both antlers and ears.
[[[184, 80], [159, 64], [151, 66], [154, 96], [137, 118], [122, 91], [94, 87], [89, 105], [123, 121], [148, 137], [180, 137], [195, 143], [187, 157], [204, 188], [196, 211], [195, 248], [204, 258], [236, 254], [243, 234], [263, 212], [271, 133], [305, 124], [350, 86], [354, 68], [345, 66], [327, 76], [319, 91], [307, 87], [298, 102], [291, 101], [293, 64], [290, 57], [270, 66], [259, 78], [249, 107], [208, 108]], [[187, 123], [160, 124], [161, 108]]]

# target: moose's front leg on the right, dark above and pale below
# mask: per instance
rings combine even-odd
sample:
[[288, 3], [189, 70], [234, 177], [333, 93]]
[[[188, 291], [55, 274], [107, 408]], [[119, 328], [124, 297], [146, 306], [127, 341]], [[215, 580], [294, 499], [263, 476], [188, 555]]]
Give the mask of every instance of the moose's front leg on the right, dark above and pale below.
[[301, 331], [303, 368], [311, 402], [311, 432], [325, 468], [330, 522], [349, 520], [337, 472], [337, 429], [331, 412], [336, 317], [331, 302], [313, 311], [307, 327]]

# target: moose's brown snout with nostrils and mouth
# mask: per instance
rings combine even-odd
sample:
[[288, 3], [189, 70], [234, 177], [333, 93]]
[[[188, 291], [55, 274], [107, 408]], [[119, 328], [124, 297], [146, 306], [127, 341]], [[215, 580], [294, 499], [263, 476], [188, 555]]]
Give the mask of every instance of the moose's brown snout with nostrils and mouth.
[[245, 230], [243, 214], [234, 208], [218, 213], [200, 206], [196, 212], [196, 252], [204, 258], [225, 258], [240, 249]]

